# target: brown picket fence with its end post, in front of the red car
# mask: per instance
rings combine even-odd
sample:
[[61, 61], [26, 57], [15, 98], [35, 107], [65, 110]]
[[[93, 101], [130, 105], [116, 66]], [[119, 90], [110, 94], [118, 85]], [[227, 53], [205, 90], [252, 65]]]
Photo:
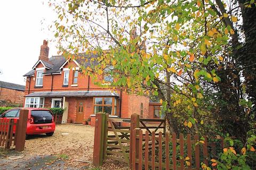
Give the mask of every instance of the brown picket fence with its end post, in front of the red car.
[[[25, 149], [26, 130], [27, 130], [28, 110], [21, 109], [19, 119], [0, 118], [0, 147], [10, 149], [15, 146], [16, 151]], [[14, 132], [15, 127], [15, 133]]]

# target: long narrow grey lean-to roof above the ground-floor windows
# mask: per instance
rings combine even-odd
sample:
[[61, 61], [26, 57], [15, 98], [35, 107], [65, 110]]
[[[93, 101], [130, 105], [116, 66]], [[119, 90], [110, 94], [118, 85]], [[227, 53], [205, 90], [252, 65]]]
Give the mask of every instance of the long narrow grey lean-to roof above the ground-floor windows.
[[102, 91], [42, 91], [33, 92], [26, 97], [93, 97], [93, 96], [115, 96], [119, 97], [116, 92], [109, 90]]

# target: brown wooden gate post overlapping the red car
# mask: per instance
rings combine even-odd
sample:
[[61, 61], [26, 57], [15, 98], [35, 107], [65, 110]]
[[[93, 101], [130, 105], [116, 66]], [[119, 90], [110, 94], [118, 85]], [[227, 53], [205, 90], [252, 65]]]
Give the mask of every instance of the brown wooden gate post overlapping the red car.
[[28, 110], [21, 109], [19, 115], [19, 123], [16, 125], [15, 133], [17, 138], [15, 139], [15, 150], [20, 152], [25, 149], [26, 131], [28, 121]]

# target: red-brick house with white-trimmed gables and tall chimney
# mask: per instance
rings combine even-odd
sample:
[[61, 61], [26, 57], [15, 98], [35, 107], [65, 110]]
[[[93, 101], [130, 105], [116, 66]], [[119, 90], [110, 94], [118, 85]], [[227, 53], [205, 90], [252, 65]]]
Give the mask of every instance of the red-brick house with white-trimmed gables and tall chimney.
[[[25, 107], [66, 108], [63, 123], [67, 118], [72, 123], [82, 123], [98, 112], [116, 117], [130, 117], [133, 113], [151, 117], [150, 114], [154, 114], [149, 113], [149, 97], [98, 87], [90, 76], [82, 74], [81, 65], [90, 66], [86, 57], [96, 57], [95, 55], [77, 56], [76, 60], [67, 60], [63, 56], [49, 58], [48, 55], [49, 47], [44, 40], [38, 61], [24, 75], [27, 78]], [[111, 81], [111, 78], [104, 75], [99, 79]]]

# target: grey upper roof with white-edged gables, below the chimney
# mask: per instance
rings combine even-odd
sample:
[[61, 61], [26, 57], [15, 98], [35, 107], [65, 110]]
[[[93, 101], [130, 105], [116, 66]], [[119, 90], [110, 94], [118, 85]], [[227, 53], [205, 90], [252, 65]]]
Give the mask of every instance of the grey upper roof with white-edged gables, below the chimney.
[[[85, 53], [80, 53], [76, 56], [74, 62], [80, 67], [80, 66], [90, 66], [90, 58], [96, 58], [98, 55], [94, 54], [85, 54]], [[45, 67], [46, 71], [44, 74], [59, 74], [61, 73], [62, 67], [69, 62], [69, 60], [66, 60], [66, 58], [62, 55], [59, 56], [52, 56], [49, 58], [49, 61], [44, 61], [44, 60], [38, 60], [37, 63], [33, 66], [33, 70], [30, 70], [28, 73], [23, 75], [24, 77], [29, 77], [33, 76], [35, 73], [35, 67], [36, 65], [41, 62]], [[98, 64], [97, 61], [93, 61], [92, 64]]]

